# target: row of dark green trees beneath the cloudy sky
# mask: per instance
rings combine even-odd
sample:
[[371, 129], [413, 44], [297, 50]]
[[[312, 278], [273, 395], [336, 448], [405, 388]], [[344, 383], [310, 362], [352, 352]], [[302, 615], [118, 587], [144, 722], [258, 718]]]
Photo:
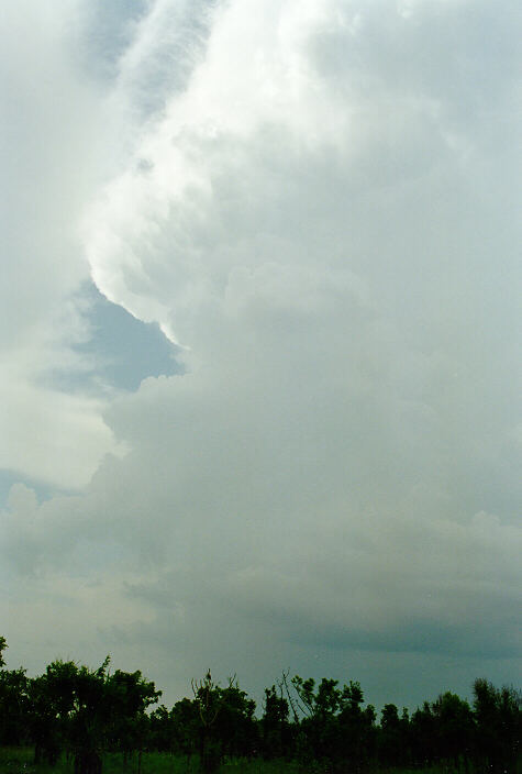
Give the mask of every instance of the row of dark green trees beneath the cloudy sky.
[[42, 675], [7, 670], [0, 637], [0, 745], [33, 745], [35, 763], [66, 755], [75, 774], [101, 774], [118, 752], [141, 771], [144, 752], [197, 760], [210, 774], [225, 760], [297, 761], [323, 772], [443, 765], [460, 774], [515, 774], [520, 764], [521, 694], [484, 678], [473, 703], [446, 692], [414, 712], [387, 704], [380, 718], [359, 683], [292, 677], [265, 689], [262, 711], [231, 677], [192, 681], [191, 695], [170, 709], [140, 671], [111, 672], [54, 661]]

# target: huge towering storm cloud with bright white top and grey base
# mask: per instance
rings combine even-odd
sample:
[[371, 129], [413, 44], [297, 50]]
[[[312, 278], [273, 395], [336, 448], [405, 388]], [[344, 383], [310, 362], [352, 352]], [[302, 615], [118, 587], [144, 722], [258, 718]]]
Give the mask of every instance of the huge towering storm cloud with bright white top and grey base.
[[49, 598], [75, 579], [89, 653], [154, 654], [173, 693], [209, 663], [258, 687], [349, 663], [387, 700], [391, 664], [436, 663], [435, 693], [471, 666], [512, 679], [515, 12], [162, 1], [135, 21], [109, 100], [132, 153], [82, 241], [186, 369], [103, 405], [129, 451], [82, 493], [15, 488], [4, 515], [12, 572]]

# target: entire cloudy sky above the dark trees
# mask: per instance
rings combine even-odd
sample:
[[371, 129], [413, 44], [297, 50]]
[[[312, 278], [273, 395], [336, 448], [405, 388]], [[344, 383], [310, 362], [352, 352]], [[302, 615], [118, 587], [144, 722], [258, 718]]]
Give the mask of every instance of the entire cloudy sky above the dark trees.
[[3, 0], [8, 665], [520, 684], [518, 0]]

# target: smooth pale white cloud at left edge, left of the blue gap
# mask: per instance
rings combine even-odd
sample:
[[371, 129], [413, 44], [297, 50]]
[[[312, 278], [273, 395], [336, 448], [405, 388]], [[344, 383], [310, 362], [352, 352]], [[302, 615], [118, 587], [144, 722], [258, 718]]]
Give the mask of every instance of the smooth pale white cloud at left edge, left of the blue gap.
[[[116, 451], [101, 402], [53, 389], [80, 371], [88, 338], [73, 297], [89, 276], [78, 219], [101, 179], [101, 93], [79, 71], [81, 3], [2, 8], [0, 464], [58, 487], [85, 485]], [[104, 152], [103, 152], [104, 153]]]

